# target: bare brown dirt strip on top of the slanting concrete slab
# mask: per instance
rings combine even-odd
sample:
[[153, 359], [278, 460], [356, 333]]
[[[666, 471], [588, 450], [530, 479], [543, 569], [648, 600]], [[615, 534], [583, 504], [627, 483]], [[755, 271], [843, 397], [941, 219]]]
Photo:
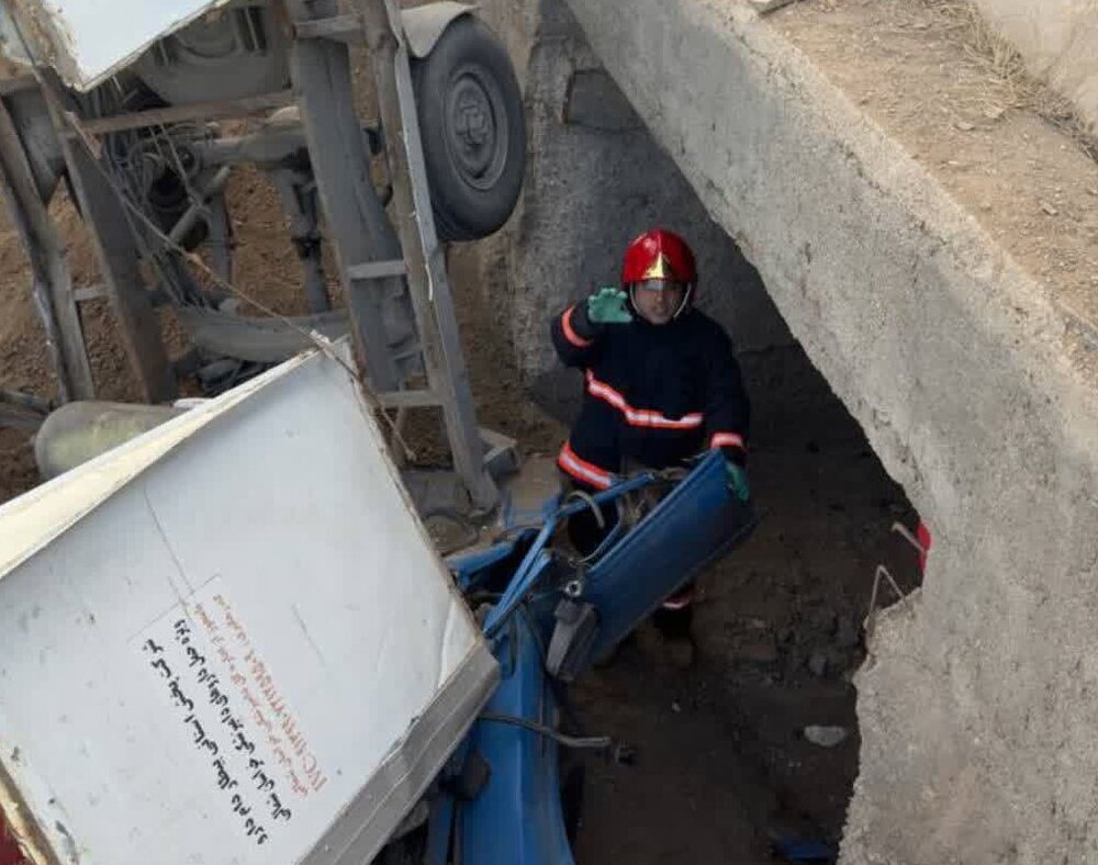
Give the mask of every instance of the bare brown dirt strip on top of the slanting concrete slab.
[[974, 7], [803, 0], [768, 21], [1098, 340], [1098, 142]]

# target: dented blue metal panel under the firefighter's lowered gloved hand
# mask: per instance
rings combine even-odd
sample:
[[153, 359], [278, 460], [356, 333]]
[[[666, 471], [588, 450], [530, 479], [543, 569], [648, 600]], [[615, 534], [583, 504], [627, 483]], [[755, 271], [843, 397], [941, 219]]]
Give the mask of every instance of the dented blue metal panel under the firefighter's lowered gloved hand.
[[714, 451], [589, 572], [583, 599], [600, 619], [592, 660], [747, 538], [754, 524], [751, 507], [729, 491], [724, 458]]

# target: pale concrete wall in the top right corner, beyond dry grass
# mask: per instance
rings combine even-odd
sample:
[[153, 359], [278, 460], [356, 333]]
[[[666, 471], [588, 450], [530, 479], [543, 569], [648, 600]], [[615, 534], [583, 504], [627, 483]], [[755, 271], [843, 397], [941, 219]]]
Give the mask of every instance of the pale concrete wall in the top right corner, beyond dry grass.
[[1030, 70], [1071, 99], [1091, 130], [1098, 127], [1098, 2], [974, 1]]

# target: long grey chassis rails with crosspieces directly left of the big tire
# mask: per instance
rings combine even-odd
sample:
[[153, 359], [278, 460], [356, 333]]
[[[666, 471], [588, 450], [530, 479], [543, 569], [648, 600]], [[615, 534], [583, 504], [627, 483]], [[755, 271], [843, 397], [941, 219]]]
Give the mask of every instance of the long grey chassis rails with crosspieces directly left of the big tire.
[[[490, 508], [498, 501], [498, 491], [484, 463], [446, 260], [435, 232], [400, 10], [389, 0], [356, 0], [355, 5], [373, 66], [399, 238], [365, 176], [347, 45], [341, 38], [299, 38], [291, 58], [313, 171], [352, 299], [355, 330], [382, 404], [440, 407], [455, 469], [473, 504]], [[334, 2], [288, 0], [287, 7], [294, 26], [306, 33], [324, 33], [328, 27], [323, 22], [337, 18]], [[346, 34], [347, 16], [338, 21], [340, 34]], [[380, 293], [393, 281], [402, 291], [406, 283], [427, 373], [427, 393], [415, 397], [393, 393], [399, 380], [392, 361], [388, 352], [385, 358], [376, 357], [381, 353], [377, 347], [388, 348], [388, 340], [371, 333], [371, 326], [381, 322]]]

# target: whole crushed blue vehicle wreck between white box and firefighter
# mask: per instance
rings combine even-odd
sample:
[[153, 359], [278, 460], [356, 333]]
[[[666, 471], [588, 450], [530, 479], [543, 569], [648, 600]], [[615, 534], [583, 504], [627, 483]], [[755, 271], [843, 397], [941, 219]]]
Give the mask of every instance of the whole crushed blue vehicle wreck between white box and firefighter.
[[[616, 508], [600, 548], [562, 541], [567, 520]], [[646, 472], [594, 496], [552, 499], [544, 517], [449, 560], [482, 622], [501, 681], [469, 735], [382, 863], [567, 865], [584, 752], [628, 762], [583, 734], [568, 683], [609, 655], [646, 617], [741, 543], [757, 519], [727, 487], [719, 453], [688, 471]], [[411, 828], [416, 822], [418, 825]]]

